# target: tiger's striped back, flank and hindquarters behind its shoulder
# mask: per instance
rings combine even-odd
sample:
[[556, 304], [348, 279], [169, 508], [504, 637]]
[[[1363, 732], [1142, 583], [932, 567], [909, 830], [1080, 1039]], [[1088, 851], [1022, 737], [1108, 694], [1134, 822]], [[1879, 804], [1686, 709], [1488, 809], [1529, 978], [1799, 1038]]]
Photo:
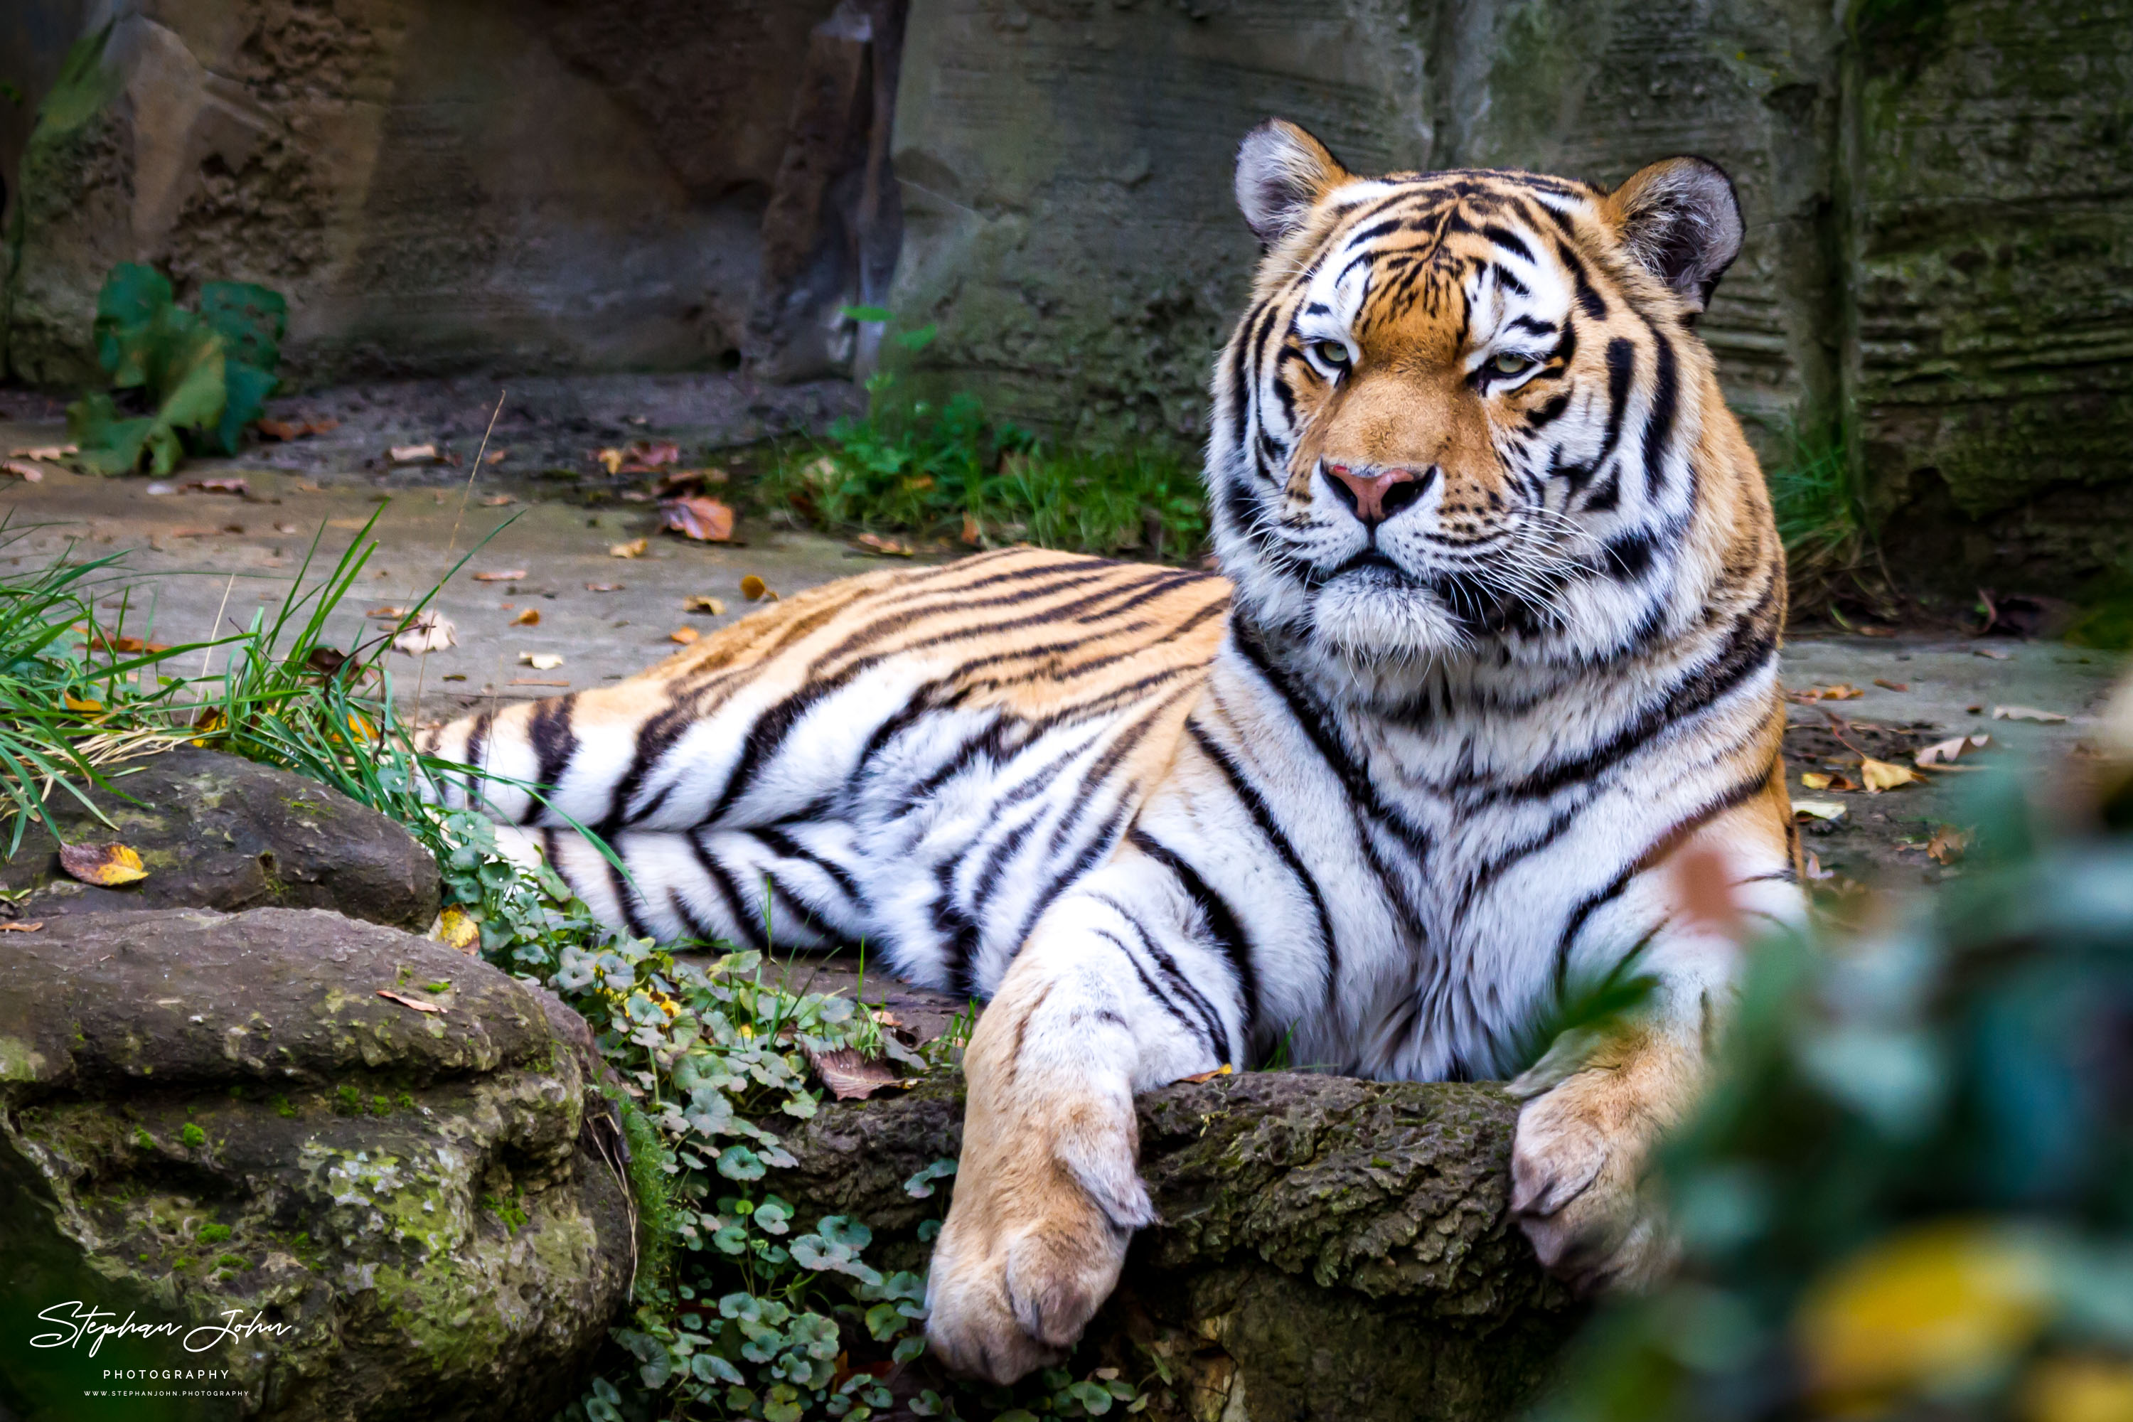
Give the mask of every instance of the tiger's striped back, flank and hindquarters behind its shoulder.
[[864, 938], [968, 991], [1160, 780], [1226, 612], [1209, 573], [1009, 548], [811, 588], [424, 750], [550, 787], [478, 797], [631, 932]]

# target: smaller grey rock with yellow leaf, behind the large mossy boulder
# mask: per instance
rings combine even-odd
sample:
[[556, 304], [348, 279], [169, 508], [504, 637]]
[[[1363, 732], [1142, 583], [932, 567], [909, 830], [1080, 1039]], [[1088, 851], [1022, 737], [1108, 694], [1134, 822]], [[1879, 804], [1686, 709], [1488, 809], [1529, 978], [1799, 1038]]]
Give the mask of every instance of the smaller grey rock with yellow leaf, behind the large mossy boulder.
[[60, 791], [51, 817], [66, 844], [119, 842], [147, 878], [117, 889], [77, 883], [60, 844], [32, 825], [0, 889], [28, 900], [21, 919], [124, 908], [333, 908], [350, 919], [424, 932], [437, 917], [437, 863], [403, 827], [316, 780], [220, 750], [179, 746], [109, 767], [119, 793], [90, 789], [105, 825]]

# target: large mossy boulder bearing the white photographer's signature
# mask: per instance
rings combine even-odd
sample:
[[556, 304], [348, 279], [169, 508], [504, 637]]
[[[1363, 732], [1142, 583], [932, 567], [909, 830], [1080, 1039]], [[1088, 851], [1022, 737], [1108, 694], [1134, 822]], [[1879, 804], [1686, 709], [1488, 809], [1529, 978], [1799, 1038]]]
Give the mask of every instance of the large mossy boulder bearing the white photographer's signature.
[[[100, 1369], [192, 1367], [228, 1369], [239, 1394], [201, 1416], [546, 1418], [636, 1264], [599, 1070], [561, 1002], [328, 912], [9, 934], [6, 1315], [85, 1300], [183, 1337], [94, 1358], [87, 1341], [32, 1358], [11, 1339], [0, 1399], [79, 1416], [68, 1401]], [[190, 1332], [224, 1318], [269, 1328]]]

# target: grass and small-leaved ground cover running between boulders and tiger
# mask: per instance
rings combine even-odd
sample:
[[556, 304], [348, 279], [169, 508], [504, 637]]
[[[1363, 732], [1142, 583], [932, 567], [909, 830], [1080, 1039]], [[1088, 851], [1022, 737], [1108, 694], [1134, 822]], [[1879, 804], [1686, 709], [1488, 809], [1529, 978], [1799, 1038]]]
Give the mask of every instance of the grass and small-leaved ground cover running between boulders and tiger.
[[[0, 548], [23, 533], [0, 529]], [[774, 1192], [774, 1170], [791, 1164], [779, 1130], [823, 1098], [811, 1053], [896, 1057], [917, 1074], [953, 1070], [962, 1038], [911, 1051], [853, 1000], [793, 991], [759, 953], [691, 944], [712, 953], [691, 962], [616, 934], [546, 866], [499, 853], [484, 817], [427, 799], [424, 776], [463, 767], [414, 750], [386, 646], [429, 597], [367, 644], [324, 642], [375, 548], [367, 535], [316, 578], [307, 556], [277, 608], [198, 644], [126, 631], [137, 584], [117, 559], [62, 556], [0, 578], [0, 812], [15, 842], [51, 795], [90, 780], [124, 793], [130, 759], [183, 742], [294, 770], [414, 831], [444, 878], [433, 934], [563, 996], [623, 1081], [640, 1224], [631, 1318], [565, 1422], [864, 1422], [892, 1405], [1064, 1422], [1145, 1409], [1111, 1371], [1052, 1369], [1015, 1390], [966, 1392], [904, 1367], [924, 1354], [924, 1275], [868, 1264], [862, 1219], [796, 1217]], [[105, 627], [98, 608], [113, 599]], [[941, 1160], [907, 1190], [945, 1215], [951, 1177]]]

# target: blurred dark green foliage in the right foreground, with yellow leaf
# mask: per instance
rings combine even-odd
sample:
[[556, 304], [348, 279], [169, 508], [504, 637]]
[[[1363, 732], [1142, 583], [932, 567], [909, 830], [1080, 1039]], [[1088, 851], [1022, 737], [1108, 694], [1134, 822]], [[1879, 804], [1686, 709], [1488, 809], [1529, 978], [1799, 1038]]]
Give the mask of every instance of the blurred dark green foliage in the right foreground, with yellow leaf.
[[1755, 953], [1662, 1151], [1683, 1269], [1536, 1422], [2133, 1418], [2133, 802], [1977, 778], [1962, 878]]

